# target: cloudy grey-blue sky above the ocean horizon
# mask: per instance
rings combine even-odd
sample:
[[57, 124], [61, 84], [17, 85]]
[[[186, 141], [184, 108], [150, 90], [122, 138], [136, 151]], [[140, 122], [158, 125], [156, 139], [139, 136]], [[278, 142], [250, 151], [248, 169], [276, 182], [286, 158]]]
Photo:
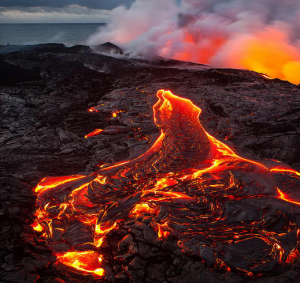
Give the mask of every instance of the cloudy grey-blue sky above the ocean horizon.
[[0, 23], [105, 23], [134, 0], [0, 0]]

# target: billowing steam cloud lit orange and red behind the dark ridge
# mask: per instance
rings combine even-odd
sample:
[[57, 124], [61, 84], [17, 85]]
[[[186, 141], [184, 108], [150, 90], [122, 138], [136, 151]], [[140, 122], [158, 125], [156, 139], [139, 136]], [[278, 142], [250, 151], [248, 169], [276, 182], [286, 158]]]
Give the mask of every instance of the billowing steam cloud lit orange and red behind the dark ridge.
[[136, 0], [88, 39], [132, 56], [253, 70], [300, 83], [299, 0]]

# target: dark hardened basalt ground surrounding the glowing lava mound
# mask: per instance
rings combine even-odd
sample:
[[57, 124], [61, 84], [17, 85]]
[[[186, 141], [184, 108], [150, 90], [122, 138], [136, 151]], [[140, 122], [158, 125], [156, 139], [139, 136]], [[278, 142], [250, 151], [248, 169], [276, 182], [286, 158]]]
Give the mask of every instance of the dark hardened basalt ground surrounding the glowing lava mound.
[[[100, 280], [56, 262], [30, 226], [36, 209], [32, 189], [46, 176], [91, 174], [99, 165], [146, 152], [159, 136], [152, 116], [158, 89], [201, 107], [205, 130], [239, 155], [276, 159], [300, 170], [296, 85], [245, 70], [113, 58], [84, 46], [21, 49], [0, 48], [1, 282]], [[87, 111], [101, 104], [101, 111]], [[84, 138], [96, 128], [103, 132]], [[111, 269], [106, 281], [300, 281], [297, 261], [257, 278], [212, 268], [183, 253], [174, 239], [158, 241], [149, 222], [133, 219], [112, 232], [104, 249], [119, 258], [106, 267]]]

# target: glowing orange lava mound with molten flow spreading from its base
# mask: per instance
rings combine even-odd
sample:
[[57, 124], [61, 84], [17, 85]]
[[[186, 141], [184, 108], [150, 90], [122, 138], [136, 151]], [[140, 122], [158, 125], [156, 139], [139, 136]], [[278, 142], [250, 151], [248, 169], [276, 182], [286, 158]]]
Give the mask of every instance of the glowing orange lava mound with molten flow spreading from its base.
[[161, 240], [173, 237], [210, 266], [261, 274], [297, 257], [300, 173], [275, 161], [238, 156], [209, 135], [201, 109], [157, 92], [161, 134], [134, 160], [89, 176], [44, 178], [35, 188], [36, 220], [58, 261], [81, 274], [105, 276], [102, 252], [125, 221], [151, 216]]

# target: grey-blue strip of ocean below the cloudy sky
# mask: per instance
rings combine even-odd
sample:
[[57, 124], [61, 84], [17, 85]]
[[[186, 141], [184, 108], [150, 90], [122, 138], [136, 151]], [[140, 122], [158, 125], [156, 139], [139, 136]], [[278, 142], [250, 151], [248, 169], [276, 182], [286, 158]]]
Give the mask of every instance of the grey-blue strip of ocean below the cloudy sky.
[[84, 44], [105, 24], [0, 24], [0, 45]]

